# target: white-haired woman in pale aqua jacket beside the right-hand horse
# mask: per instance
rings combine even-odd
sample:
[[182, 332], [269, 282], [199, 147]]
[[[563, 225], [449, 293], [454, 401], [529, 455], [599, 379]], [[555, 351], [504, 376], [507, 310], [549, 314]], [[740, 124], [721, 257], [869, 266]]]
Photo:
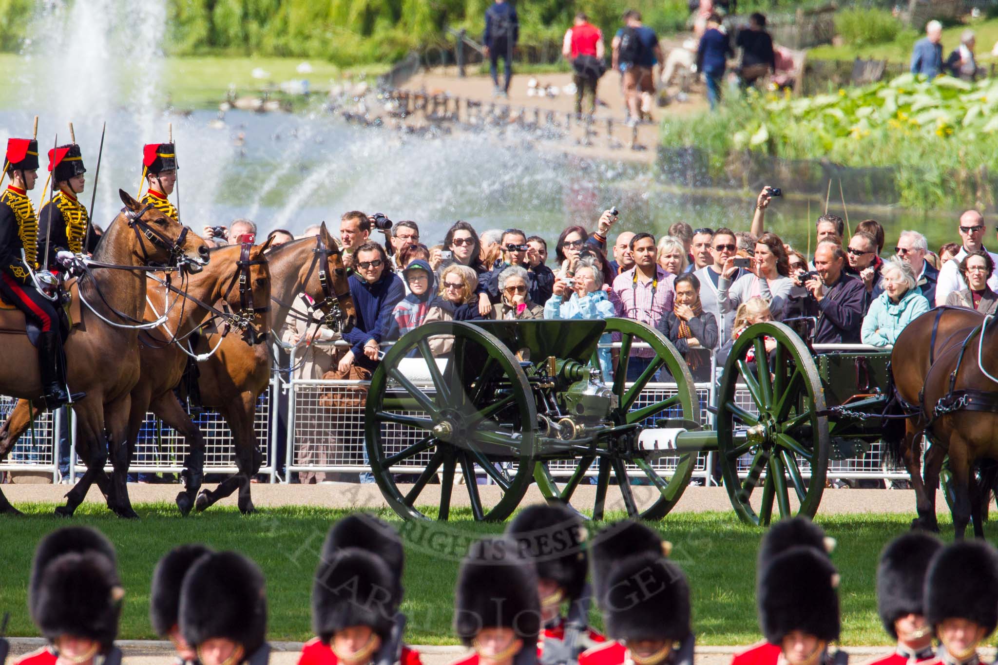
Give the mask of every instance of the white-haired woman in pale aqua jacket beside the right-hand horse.
[[915, 287], [911, 266], [896, 256], [880, 268], [883, 293], [870, 303], [861, 339], [872, 346], [893, 346], [904, 327], [929, 311], [929, 301]]

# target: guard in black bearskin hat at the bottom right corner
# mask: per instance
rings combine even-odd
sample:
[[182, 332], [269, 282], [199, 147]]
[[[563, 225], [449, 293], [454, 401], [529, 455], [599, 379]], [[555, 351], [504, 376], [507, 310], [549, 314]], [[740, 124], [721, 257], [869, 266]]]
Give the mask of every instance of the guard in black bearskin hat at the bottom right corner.
[[925, 619], [945, 665], [978, 665], [977, 645], [998, 625], [998, 551], [984, 540], [957, 540], [932, 556]]

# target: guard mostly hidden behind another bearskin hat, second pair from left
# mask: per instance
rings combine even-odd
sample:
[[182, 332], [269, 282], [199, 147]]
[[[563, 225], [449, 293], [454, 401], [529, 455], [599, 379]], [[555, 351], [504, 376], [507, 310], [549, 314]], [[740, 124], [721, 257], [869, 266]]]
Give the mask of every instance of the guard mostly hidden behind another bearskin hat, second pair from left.
[[167, 552], [153, 570], [153, 584], [149, 598], [149, 620], [160, 637], [174, 643], [177, 665], [193, 665], [198, 653], [181, 633], [180, 605], [184, 577], [198, 560], [212, 550], [200, 542], [179, 545]]

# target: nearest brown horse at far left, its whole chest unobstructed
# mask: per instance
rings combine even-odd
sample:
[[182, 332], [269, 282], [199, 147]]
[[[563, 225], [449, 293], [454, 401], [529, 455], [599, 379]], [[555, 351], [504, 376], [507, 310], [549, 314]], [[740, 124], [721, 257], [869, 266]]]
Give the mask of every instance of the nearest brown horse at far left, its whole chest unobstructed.
[[[128, 462], [127, 430], [132, 388], [139, 380], [139, 329], [146, 311], [146, 270], [143, 266], [208, 263], [208, 247], [190, 229], [152, 206], [143, 206], [119, 190], [125, 208], [108, 226], [94, 252], [90, 268], [77, 281], [74, 297], [86, 305], [83, 325], [66, 341], [67, 379], [72, 392], [86, 397], [73, 405], [77, 419], [77, 452], [87, 472], [67, 495], [70, 515], [97, 482], [108, 507], [132, 516], [119, 506]], [[100, 265], [99, 265], [100, 264]], [[111, 266], [111, 267], [107, 267]], [[116, 268], [115, 266], [120, 266]], [[36, 351], [25, 335], [0, 335], [0, 394], [37, 400], [42, 394]], [[13, 439], [0, 441], [0, 459]], [[113, 484], [104, 472], [111, 453]], [[0, 510], [16, 512], [3, 499]]]

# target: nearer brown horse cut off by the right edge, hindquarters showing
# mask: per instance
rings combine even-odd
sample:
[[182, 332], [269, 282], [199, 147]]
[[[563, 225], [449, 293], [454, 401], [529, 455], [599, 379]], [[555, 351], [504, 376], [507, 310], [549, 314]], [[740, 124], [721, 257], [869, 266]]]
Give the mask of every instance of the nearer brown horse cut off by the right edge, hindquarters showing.
[[[949, 455], [956, 538], [963, 537], [972, 513], [974, 534], [984, 537], [982, 498], [977, 492], [973, 470], [981, 460], [998, 460], [995, 345], [998, 345], [998, 323], [993, 318], [954, 331], [951, 343], [936, 357], [925, 377], [922, 418], [929, 424], [927, 432], [936, 442], [933, 448], [938, 446]], [[984, 484], [987, 492], [991, 480]]]

